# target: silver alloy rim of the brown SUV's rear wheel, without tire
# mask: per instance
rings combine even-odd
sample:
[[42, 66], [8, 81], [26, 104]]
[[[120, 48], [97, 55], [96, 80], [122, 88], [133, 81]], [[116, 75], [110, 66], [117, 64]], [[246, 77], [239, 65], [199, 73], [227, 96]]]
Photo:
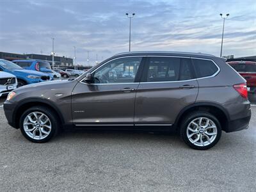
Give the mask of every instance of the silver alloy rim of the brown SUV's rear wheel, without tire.
[[188, 140], [198, 147], [210, 145], [217, 136], [216, 124], [207, 117], [199, 117], [192, 120], [187, 127]]

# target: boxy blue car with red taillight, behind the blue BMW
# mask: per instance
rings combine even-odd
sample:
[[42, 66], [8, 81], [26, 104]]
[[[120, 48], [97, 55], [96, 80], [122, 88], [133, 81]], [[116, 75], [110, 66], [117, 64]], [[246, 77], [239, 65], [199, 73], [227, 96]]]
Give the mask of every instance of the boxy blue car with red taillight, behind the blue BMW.
[[13, 60], [13, 63], [16, 63], [20, 67], [28, 70], [36, 70], [38, 72], [43, 72], [53, 79], [53, 73], [50, 63], [43, 60]]

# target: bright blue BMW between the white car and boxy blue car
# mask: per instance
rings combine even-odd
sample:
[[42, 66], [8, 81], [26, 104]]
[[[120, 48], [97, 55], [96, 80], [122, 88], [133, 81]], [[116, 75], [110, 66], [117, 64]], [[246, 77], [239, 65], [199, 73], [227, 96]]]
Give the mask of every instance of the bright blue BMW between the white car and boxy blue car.
[[0, 59], [0, 71], [8, 72], [17, 77], [18, 85], [23, 86], [25, 84], [40, 83], [44, 81], [50, 81], [52, 78], [42, 72], [35, 70], [26, 70], [19, 65], [7, 60]]

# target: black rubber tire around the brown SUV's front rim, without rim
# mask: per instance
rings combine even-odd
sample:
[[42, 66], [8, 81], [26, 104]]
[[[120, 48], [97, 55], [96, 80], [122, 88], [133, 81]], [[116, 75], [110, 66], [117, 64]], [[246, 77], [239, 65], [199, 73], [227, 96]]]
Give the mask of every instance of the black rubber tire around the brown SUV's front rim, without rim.
[[[45, 115], [48, 116], [48, 118], [50, 119], [51, 121], [51, 125], [52, 125], [52, 128], [51, 128], [51, 132], [50, 134], [44, 138], [43, 140], [35, 140], [33, 138], [30, 138], [26, 132], [24, 131], [24, 127], [23, 127], [23, 122], [24, 122], [24, 119], [26, 118], [26, 116], [29, 114], [29, 113], [33, 113], [35, 111], [38, 111], [38, 112], [41, 112], [41, 113], [44, 113]], [[23, 136], [29, 140], [29, 141], [32, 141], [34, 143], [45, 143], [49, 140], [51, 140], [52, 137], [54, 137], [57, 132], [58, 132], [58, 127], [59, 127], [59, 124], [58, 124], [58, 118], [57, 116], [54, 114], [54, 111], [52, 111], [51, 109], [49, 108], [45, 108], [43, 106], [35, 106], [35, 107], [32, 107], [32, 108], [29, 108], [27, 109], [21, 116], [20, 116], [20, 122], [19, 122], [19, 125], [20, 125], [20, 131], [22, 132]]]

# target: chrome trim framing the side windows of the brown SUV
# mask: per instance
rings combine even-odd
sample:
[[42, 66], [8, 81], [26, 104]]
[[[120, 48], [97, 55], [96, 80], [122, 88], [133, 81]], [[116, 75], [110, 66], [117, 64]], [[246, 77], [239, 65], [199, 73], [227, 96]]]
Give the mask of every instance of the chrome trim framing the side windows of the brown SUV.
[[[95, 68], [95, 70], [98, 70], [99, 68], [103, 67], [104, 65], [106, 65], [107, 63], [109, 63], [110, 61], [113, 60], [117, 60], [117, 59], [122, 59], [122, 58], [138, 58], [138, 57], [164, 57], [164, 58], [189, 58], [189, 59], [195, 59], [195, 60], [207, 60], [207, 61], [212, 61], [212, 63], [214, 63], [214, 65], [218, 68], [218, 70], [212, 74], [212, 76], [207, 76], [207, 77], [200, 77], [200, 78], [195, 78], [195, 79], [188, 79], [188, 80], [182, 80], [182, 81], [152, 81], [152, 82], [140, 82], [142, 84], [147, 84], [147, 83], [177, 83], [177, 82], [187, 82], [187, 81], [195, 81], [195, 80], [200, 80], [200, 79], [206, 79], [206, 78], [211, 78], [211, 77], [215, 77], [216, 75], [218, 75], [218, 73], [220, 72], [220, 67], [211, 59], [206, 59], [206, 58], [195, 58], [195, 57], [190, 57], [190, 56], [164, 56], [164, 55], [159, 55], [159, 56], [151, 56], [151, 55], [141, 55], [141, 56], [123, 56], [123, 57], [119, 57], [119, 58], [114, 58], [112, 60], [109, 60], [108, 62], [104, 63], [103, 65], [100, 65], [100, 67]], [[93, 70], [91, 73], [95, 72], [95, 70]], [[86, 77], [84, 77], [83, 79], [81, 79], [81, 81], [79, 81], [79, 83], [84, 83], [84, 79]], [[84, 84], [92, 84], [92, 85], [98, 85], [98, 84], [140, 84], [140, 83], [84, 83]]]

